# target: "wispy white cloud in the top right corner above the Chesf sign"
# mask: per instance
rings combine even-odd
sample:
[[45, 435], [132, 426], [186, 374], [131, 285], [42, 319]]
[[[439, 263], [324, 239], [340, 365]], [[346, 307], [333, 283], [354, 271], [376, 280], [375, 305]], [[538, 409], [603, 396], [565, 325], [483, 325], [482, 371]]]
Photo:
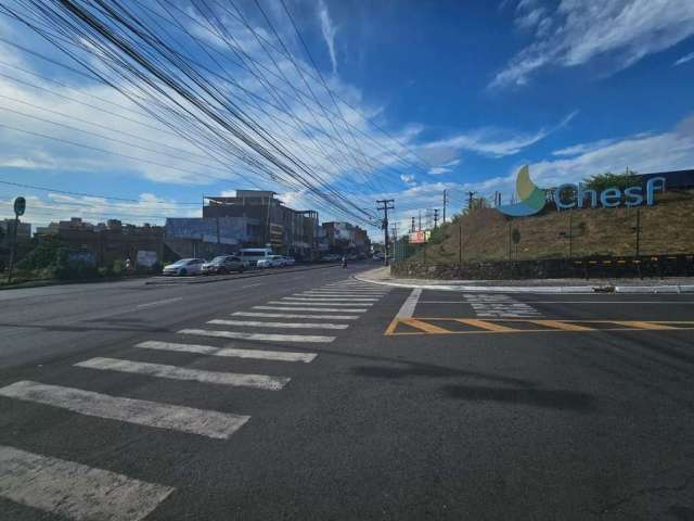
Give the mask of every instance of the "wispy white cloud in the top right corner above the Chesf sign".
[[522, 86], [540, 68], [597, 58], [617, 72], [694, 34], [691, 0], [562, 0], [551, 14], [518, 8], [515, 22], [535, 27], [535, 40], [496, 75], [492, 88]]

